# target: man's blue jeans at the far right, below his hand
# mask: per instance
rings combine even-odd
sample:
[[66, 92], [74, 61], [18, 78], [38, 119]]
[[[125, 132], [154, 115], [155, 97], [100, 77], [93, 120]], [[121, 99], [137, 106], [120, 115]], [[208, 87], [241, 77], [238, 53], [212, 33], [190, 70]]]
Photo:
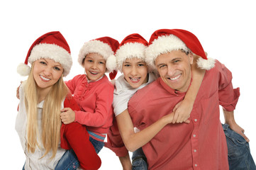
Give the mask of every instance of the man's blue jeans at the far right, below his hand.
[[249, 143], [229, 128], [229, 125], [223, 124], [223, 130], [226, 135], [228, 145], [228, 164], [229, 169], [256, 169], [255, 162], [250, 154]]

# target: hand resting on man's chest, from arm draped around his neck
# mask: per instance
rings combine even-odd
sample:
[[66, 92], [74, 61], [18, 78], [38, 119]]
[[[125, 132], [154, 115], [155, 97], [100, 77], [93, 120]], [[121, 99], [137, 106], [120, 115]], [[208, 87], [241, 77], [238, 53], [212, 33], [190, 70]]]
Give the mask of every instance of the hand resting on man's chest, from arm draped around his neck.
[[188, 120], [190, 117], [190, 113], [193, 109], [193, 104], [187, 100], [183, 100], [174, 107], [174, 118], [172, 123], [190, 123]]

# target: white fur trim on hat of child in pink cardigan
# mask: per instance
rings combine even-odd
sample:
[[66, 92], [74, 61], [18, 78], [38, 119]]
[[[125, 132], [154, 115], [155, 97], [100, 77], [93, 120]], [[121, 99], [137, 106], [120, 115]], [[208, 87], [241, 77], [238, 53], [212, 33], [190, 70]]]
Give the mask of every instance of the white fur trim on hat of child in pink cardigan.
[[109, 56], [113, 55], [111, 47], [105, 42], [100, 40], [91, 40], [89, 42], [85, 42], [78, 55], [78, 62], [82, 65], [82, 67], [84, 67], [82, 62], [85, 56], [92, 52], [102, 55], [105, 60], [107, 60]]

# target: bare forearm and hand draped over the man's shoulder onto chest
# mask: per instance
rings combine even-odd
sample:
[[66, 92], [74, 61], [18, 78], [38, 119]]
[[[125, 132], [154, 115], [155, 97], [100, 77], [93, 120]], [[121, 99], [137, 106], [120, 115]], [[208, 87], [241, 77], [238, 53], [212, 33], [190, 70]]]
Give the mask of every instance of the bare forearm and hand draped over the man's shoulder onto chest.
[[190, 117], [190, 113], [194, 106], [194, 101], [196, 100], [196, 95], [200, 89], [201, 82], [203, 81], [204, 74], [206, 72], [204, 69], [199, 69], [196, 66], [196, 60], [198, 58], [199, 56], [194, 55], [194, 61], [191, 65], [193, 81], [187, 91], [184, 100], [179, 102], [174, 107], [174, 118], [172, 120], [172, 123], [183, 123]]

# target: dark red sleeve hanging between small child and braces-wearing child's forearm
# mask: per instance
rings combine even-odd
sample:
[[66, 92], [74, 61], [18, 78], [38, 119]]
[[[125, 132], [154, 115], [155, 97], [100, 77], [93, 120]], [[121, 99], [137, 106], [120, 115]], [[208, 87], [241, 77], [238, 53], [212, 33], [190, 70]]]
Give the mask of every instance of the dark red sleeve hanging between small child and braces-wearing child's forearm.
[[118, 125], [116, 123], [116, 118], [113, 118], [113, 125], [108, 132], [108, 140], [105, 142], [104, 147], [111, 149], [116, 156], [125, 157], [128, 154], [126, 146], [123, 144], [122, 137], [118, 130]]

